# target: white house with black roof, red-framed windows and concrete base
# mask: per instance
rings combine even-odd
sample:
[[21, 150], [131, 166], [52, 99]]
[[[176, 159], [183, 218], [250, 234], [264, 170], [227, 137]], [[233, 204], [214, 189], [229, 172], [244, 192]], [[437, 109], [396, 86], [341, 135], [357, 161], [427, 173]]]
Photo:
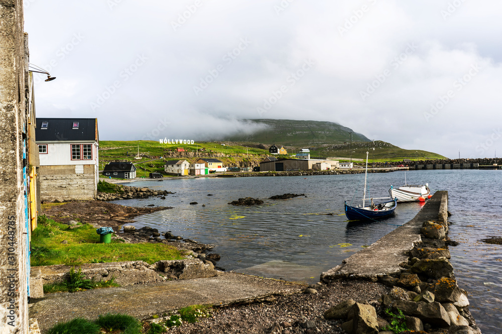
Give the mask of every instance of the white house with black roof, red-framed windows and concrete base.
[[37, 118], [42, 201], [96, 198], [99, 136], [96, 118]]

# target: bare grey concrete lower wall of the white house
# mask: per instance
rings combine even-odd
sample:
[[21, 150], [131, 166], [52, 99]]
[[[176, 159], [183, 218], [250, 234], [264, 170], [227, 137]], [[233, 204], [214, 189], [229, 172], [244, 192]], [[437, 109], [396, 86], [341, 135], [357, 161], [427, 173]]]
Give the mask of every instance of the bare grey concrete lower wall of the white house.
[[42, 201], [88, 200], [96, 198], [95, 165], [82, 165], [77, 174], [75, 166], [40, 166], [40, 196]]

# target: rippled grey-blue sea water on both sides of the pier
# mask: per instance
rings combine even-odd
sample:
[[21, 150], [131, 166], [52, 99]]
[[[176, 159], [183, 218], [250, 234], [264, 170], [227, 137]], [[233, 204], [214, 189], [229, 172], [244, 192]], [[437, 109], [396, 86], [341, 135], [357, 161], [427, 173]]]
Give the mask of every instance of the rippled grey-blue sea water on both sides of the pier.
[[[450, 247], [458, 283], [469, 291], [471, 312], [484, 332], [502, 327], [502, 246], [480, 239], [501, 237], [500, 181], [496, 170], [408, 171], [408, 184], [428, 182], [449, 191]], [[390, 185], [404, 184], [404, 172], [368, 174], [370, 195], [388, 196]], [[393, 217], [381, 223], [348, 223], [343, 202], [361, 203], [363, 174], [308, 177], [197, 178], [140, 183], [176, 192], [165, 200], [122, 200], [129, 206], [149, 204], [174, 209], [137, 217], [134, 225], [216, 245], [218, 266], [265, 277], [316, 282], [326, 271], [412, 219], [420, 203], [400, 203]], [[130, 183], [138, 186], [138, 183]], [[354, 195], [354, 191], [358, 190]], [[288, 200], [267, 199], [284, 193], [305, 193]], [[211, 194], [213, 196], [208, 196]], [[236, 207], [240, 197], [265, 200], [261, 206]], [[198, 205], [190, 205], [190, 202]], [[202, 207], [205, 204], [205, 207]], [[328, 215], [331, 214], [331, 215]]]

